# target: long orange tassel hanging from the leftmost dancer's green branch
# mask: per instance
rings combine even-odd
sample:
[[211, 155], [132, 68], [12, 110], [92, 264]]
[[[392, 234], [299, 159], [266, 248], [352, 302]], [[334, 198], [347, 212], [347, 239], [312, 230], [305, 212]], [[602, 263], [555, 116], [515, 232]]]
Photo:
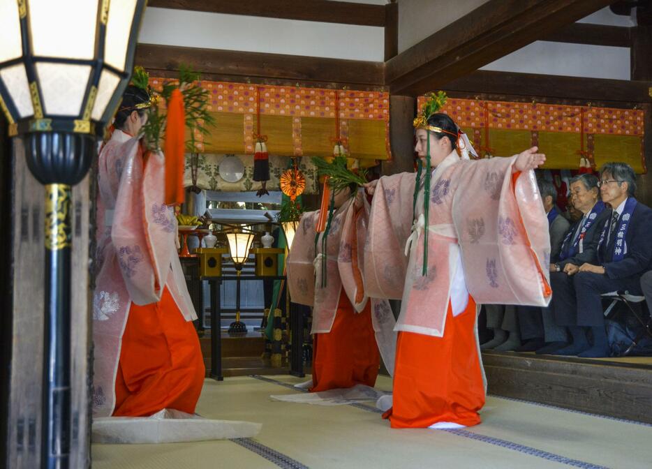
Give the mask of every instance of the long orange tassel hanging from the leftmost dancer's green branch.
[[186, 115], [184, 96], [179, 89], [172, 91], [168, 101], [168, 122], [165, 126], [165, 204], [182, 204], [184, 191]]

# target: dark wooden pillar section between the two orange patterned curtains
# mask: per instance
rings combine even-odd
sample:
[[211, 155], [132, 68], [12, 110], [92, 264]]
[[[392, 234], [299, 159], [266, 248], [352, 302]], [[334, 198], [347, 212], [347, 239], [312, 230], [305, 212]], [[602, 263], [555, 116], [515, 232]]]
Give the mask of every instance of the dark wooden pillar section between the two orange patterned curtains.
[[392, 161], [383, 161], [382, 174], [414, 171], [414, 127], [416, 100], [411, 96], [390, 96], [390, 142]]

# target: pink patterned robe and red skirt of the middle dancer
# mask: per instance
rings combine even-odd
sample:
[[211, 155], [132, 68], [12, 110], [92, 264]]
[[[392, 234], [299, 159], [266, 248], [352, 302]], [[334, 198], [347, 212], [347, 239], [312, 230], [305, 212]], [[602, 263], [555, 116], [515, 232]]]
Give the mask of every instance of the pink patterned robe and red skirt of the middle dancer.
[[[396, 347], [396, 333], [393, 332], [395, 320], [387, 300], [369, 298], [364, 291], [363, 246], [369, 223], [370, 207], [362, 192], [357, 193], [355, 197], [357, 204], [354, 204], [354, 199], [351, 198], [335, 211], [327, 236], [326, 253], [322, 252], [323, 233], [319, 234], [316, 243], [315, 227], [319, 211], [306, 212], [302, 216], [288, 257], [290, 297], [295, 303], [312, 306], [311, 334], [318, 334], [317, 341], [322, 341], [322, 343], [329, 340], [326, 336], [332, 332], [334, 324], [338, 327], [338, 331], [350, 327], [360, 327], [360, 325], [353, 326], [353, 322], [351, 322], [349, 325], [341, 325], [340, 329], [338, 315], [370, 314], [371, 327], [373, 327], [371, 330], [372, 344], [373, 336], [375, 336], [380, 356], [383, 357], [383, 362], [391, 373]], [[323, 262], [326, 263], [325, 286], [322, 283]], [[356, 320], [355, 323], [358, 324], [360, 321]], [[350, 339], [350, 337], [348, 338]], [[366, 350], [365, 338], [366, 335], [363, 334], [357, 339], [360, 341], [360, 346], [357, 349], [364, 348]], [[355, 342], [355, 338], [352, 340]], [[345, 346], [333, 344], [332, 348], [343, 349]], [[375, 349], [376, 345], [373, 344], [370, 347]], [[355, 344], [351, 345], [351, 348], [356, 349]], [[355, 355], [355, 350], [352, 350], [351, 353]], [[378, 352], [374, 353], [376, 356], [378, 355]], [[360, 355], [360, 350], [357, 350], [357, 355]], [[325, 359], [324, 357], [318, 358], [319, 360]], [[329, 358], [339, 359], [340, 357], [334, 353]], [[353, 360], [354, 358], [349, 357], [349, 359]], [[316, 358], [315, 363], [317, 362]], [[364, 359], [361, 359], [360, 362], [364, 362]], [[337, 374], [336, 368], [336, 364], [333, 364], [330, 374]], [[363, 368], [371, 368], [371, 365], [367, 364]], [[369, 381], [375, 382], [376, 373], [378, 373], [377, 362], [373, 373], [369, 371], [369, 373], [360, 372], [359, 374], [364, 376], [373, 374], [373, 380], [369, 378]], [[314, 378], [313, 376], [313, 380]], [[350, 386], [356, 384], [350, 380], [333, 380], [332, 382], [336, 381], [346, 382]], [[315, 384], [318, 386], [318, 383]], [[369, 384], [369, 382], [362, 384]], [[325, 389], [318, 388], [317, 390]]]

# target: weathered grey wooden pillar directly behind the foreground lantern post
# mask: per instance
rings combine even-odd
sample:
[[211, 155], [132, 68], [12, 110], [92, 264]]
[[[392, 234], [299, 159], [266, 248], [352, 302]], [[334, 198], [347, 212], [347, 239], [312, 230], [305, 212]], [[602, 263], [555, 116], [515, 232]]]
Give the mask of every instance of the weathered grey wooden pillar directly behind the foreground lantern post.
[[[3, 132], [3, 135], [5, 133]], [[43, 385], [43, 322], [44, 322], [44, 250], [43, 239], [45, 191], [34, 179], [25, 163], [24, 144], [13, 139], [10, 177], [4, 178], [10, 186], [12, 200], [6, 212], [10, 242], [3, 243], [3, 256], [9, 258], [8, 276], [10, 297], [8, 330], [10, 340], [10, 369], [8, 384], [8, 418], [6, 427], [7, 451], [0, 466], [15, 469], [40, 467], [41, 408]], [[73, 187], [72, 193], [72, 305], [74, 327], [71, 334], [72, 385], [72, 440], [71, 468], [90, 467], [89, 396], [92, 358], [91, 314], [89, 295], [89, 214], [91, 195], [87, 176]], [[4, 263], [3, 263], [4, 265]], [[4, 291], [4, 290], [3, 290]], [[2, 295], [0, 301], [6, 301]], [[4, 402], [3, 402], [4, 404]]]

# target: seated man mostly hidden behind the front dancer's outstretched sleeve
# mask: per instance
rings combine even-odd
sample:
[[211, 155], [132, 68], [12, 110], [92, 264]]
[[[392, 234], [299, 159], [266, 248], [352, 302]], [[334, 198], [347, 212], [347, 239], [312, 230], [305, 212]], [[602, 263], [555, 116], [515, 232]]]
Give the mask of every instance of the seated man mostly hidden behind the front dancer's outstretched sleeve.
[[[548, 231], [550, 234], [550, 262], [555, 262], [561, 251], [561, 244], [564, 236], [570, 227], [568, 220], [564, 218], [557, 207], [555, 200], [557, 191], [553, 184], [546, 179], [538, 181], [541, 202], [548, 216]], [[518, 306], [519, 326], [521, 328], [521, 339], [523, 345], [512, 348], [517, 352], [533, 352], [544, 345], [552, 343], [563, 343], [566, 340], [566, 332], [563, 327], [558, 327], [549, 308], [537, 308], [534, 306]]]

